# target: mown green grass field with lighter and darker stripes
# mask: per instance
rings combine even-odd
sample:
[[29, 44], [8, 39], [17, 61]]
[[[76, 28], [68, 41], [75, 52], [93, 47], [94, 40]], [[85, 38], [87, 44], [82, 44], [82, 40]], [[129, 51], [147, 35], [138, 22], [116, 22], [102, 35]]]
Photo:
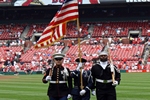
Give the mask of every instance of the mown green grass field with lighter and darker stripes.
[[[48, 84], [43, 75], [0, 76], [0, 100], [48, 100]], [[117, 100], [150, 100], [150, 73], [121, 73], [121, 84], [116, 87]], [[71, 99], [70, 99], [71, 100]], [[96, 100], [91, 95], [91, 100]]]

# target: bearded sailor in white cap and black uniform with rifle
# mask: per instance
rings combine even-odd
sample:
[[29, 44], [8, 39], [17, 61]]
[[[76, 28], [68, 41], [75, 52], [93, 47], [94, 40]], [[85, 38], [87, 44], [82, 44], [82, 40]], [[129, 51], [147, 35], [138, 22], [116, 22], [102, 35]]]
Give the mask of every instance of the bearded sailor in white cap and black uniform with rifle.
[[[99, 54], [99, 62], [95, 64], [91, 73], [93, 76], [93, 82], [96, 86], [96, 97], [97, 100], [116, 100], [116, 90], [115, 87], [120, 83], [120, 72], [112, 63], [108, 63], [108, 53], [102, 51]], [[112, 80], [111, 68], [113, 66], [115, 72], [115, 83]]]

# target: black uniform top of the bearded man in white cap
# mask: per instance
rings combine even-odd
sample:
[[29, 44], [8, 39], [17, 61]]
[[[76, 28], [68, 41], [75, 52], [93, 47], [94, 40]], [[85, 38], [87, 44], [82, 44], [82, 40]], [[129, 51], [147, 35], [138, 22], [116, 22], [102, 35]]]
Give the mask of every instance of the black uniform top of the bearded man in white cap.
[[[112, 75], [111, 75], [111, 69], [110, 69], [110, 64], [107, 65], [105, 69], [102, 68], [101, 65], [96, 64], [92, 67], [91, 69], [92, 76], [93, 76], [93, 82], [95, 85], [96, 79], [101, 79], [101, 80], [111, 80]], [[117, 68], [115, 68], [115, 80], [118, 81], [118, 84], [120, 83], [120, 72], [117, 71]], [[96, 89], [110, 89], [114, 86], [112, 86], [111, 83], [100, 83], [96, 82]], [[93, 89], [95, 86], [93, 87]]]

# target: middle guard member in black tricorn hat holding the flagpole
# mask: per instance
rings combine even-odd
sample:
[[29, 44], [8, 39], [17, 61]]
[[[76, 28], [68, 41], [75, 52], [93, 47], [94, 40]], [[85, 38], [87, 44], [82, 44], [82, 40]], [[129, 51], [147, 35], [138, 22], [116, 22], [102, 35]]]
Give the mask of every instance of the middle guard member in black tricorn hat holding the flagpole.
[[[71, 77], [74, 78], [74, 88], [71, 91], [73, 100], [90, 100], [90, 89], [93, 86], [93, 80], [91, 72], [84, 70], [87, 60], [82, 58], [81, 63], [79, 63], [79, 59], [75, 61], [78, 62], [78, 67], [71, 73]], [[80, 68], [82, 69], [83, 89], [81, 89]]]

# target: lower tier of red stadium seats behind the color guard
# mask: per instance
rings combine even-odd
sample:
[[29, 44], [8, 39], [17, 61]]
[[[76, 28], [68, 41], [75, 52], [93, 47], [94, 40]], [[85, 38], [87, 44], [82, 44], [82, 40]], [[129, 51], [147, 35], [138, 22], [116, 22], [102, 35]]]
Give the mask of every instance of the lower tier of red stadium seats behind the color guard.
[[[86, 63], [86, 70], [90, 70], [93, 64], [93, 59], [98, 57], [98, 53], [101, 52], [103, 47], [103, 45], [95, 44], [81, 45], [81, 56], [88, 61]], [[9, 52], [7, 52], [7, 54], [10, 55], [8, 57], [9, 59], [1, 59], [1, 61], [3, 61], [3, 63], [1, 64], [1, 68], [3, 69], [3, 71], [42, 71], [43, 67], [49, 66], [54, 51], [56, 50], [56, 52], [61, 52], [63, 48], [63, 46], [50, 46], [49, 48], [42, 48], [36, 50], [34, 49], [34, 47], [31, 47], [25, 54], [20, 54], [20, 52], [17, 52], [16, 54], [11, 54], [10, 52], [12, 52], [12, 50], [10, 49]], [[76, 68], [77, 63], [75, 63], [74, 61], [76, 58], [79, 57], [78, 49], [78, 46], [72, 45], [66, 52], [66, 57], [64, 58], [63, 65], [70, 68], [71, 70], [74, 70]], [[143, 49], [144, 44], [114, 44], [112, 42], [110, 47], [110, 54], [112, 60], [114, 61], [114, 64], [119, 69], [146, 69], [147, 67], [143, 64], [143, 60], [141, 59]], [[6, 49], [4, 49], [4, 52], [7, 51], [5, 50]], [[18, 56], [19, 63], [17, 63], [17, 60], [12, 59], [16, 58], [17, 54], [20, 54]], [[7, 63], [4, 63], [6, 59]], [[14, 64], [12, 63], [12, 60], [14, 60]]]

